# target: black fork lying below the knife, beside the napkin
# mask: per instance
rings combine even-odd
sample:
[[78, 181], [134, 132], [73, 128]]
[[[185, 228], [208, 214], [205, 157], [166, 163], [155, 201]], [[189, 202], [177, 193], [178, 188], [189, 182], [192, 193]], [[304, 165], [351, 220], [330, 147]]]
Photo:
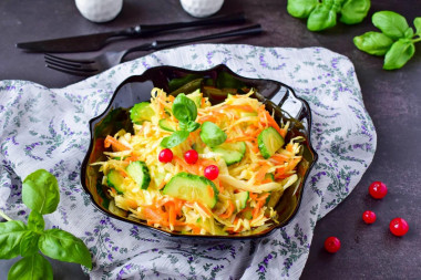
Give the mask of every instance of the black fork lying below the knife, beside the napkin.
[[138, 52], [138, 51], [157, 51], [179, 44], [186, 44], [186, 43], [193, 43], [198, 41], [206, 41], [206, 40], [214, 40], [214, 39], [222, 39], [222, 38], [228, 38], [228, 37], [240, 37], [240, 35], [254, 35], [261, 33], [261, 27], [260, 24], [242, 28], [242, 29], [235, 29], [222, 33], [213, 33], [208, 35], [202, 35], [202, 37], [195, 37], [195, 38], [187, 38], [187, 39], [177, 39], [177, 40], [158, 40], [154, 41], [152, 43], [145, 43], [138, 46], [134, 46], [124, 51], [120, 52], [105, 52], [103, 54], [100, 54], [97, 56], [94, 56], [92, 59], [88, 60], [73, 60], [73, 59], [66, 59], [61, 58], [58, 55], [52, 55], [49, 53], [44, 54], [45, 59], [45, 66], [61, 71], [68, 74], [72, 75], [80, 75], [80, 76], [91, 76], [95, 75], [97, 73], [101, 73], [112, 66], [117, 65], [123, 61], [123, 59], [132, 52]]

